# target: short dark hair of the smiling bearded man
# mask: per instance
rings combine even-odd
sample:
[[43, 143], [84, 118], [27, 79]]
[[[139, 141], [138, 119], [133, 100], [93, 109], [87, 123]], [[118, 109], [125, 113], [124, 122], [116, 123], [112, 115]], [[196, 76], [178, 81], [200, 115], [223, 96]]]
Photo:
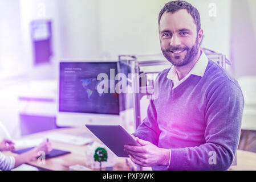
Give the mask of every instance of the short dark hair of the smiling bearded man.
[[159, 24], [160, 24], [162, 14], [164, 14], [165, 12], [175, 13], [176, 11], [181, 9], [186, 9], [188, 13], [192, 16], [192, 18], [194, 19], [194, 23], [197, 26], [197, 33], [198, 33], [201, 29], [200, 14], [194, 6], [192, 6], [190, 3], [186, 1], [170, 1], [166, 3], [159, 13]]

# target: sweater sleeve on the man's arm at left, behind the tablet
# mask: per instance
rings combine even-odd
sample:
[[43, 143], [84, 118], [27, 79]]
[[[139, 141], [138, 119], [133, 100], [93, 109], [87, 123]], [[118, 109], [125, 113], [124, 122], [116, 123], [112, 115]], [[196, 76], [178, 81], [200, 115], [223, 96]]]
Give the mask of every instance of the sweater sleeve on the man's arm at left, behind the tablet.
[[150, 100], [147, 110], [147, 117], [143, 120], [143, 122], [137, 128], [136, 133], [133, 133], [133, 135], [157, 145], [160, 130], [159, 126], [157, 125], [157, 113], [154, 100]]

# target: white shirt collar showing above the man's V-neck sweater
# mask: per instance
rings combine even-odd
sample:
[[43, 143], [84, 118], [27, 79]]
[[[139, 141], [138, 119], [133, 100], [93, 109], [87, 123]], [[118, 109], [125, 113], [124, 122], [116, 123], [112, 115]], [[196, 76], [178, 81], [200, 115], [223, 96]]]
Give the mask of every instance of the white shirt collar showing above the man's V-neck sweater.
[[208, 57], [205, 55], [204, 51], [201, 51], [201, 56], [197, 60], [197, 63], [194, 64], [194, 67], [191, 69], [191, 71], [181, 80], [178, 80], [178, 74], [176, 72], [176, 69], [174, 66], [170, 68], [170, 71], [168, 75], [166, 76], [168, 79], [173, 81], [173, 89], [176, 88], [178, 85], [180, 85], [182, 82], [184, 82], [190, 75], [197, 75], [197, 76], [204, 76], [205, 69], [208, 65]]

